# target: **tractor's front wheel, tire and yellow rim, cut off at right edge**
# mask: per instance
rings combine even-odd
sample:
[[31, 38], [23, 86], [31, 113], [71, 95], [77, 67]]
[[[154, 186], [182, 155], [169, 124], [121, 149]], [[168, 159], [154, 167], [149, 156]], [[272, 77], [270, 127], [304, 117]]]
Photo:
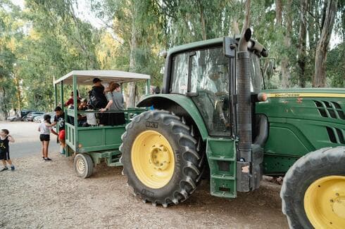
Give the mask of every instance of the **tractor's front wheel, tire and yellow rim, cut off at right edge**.
[[345, 228], [345, 147], [322, 148], [287, 171], [280, 197], [290, 228]]

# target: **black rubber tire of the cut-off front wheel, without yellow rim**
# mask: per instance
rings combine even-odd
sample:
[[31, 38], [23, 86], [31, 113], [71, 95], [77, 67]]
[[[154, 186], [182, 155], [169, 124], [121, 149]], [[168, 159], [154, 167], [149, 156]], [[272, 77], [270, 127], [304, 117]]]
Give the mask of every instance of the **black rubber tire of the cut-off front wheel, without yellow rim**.
[[[284, 176], [280, 197], [290, 228], [313, 228], [303, 208], [306, 188], [322, 176], [345, 175], [345, 147], [321, 148], [298, 159]], [[309, 179], [307, 179], [309, 178]], [[303, 183], [304, 182], [304, 183]]]

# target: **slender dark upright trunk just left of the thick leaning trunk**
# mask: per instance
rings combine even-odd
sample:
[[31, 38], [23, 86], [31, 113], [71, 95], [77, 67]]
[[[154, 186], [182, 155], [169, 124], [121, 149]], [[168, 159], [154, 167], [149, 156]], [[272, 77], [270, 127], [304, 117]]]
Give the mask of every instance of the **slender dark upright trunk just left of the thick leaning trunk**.
[[297, 63], [299, 64], [299, 86], [306, 87], [306, 15], [308, 9], [308, 0], [301, 0], [301, 24], [299, 25], [299, 57]]

